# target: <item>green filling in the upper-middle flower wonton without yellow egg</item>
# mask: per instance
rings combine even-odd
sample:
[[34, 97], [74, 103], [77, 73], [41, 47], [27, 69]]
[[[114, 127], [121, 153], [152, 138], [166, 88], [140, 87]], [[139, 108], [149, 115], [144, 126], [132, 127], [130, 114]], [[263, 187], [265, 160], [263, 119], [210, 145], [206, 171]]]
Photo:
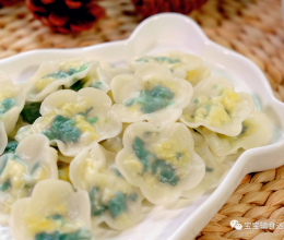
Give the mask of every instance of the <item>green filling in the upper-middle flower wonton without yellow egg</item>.
[[167, 87], [156, 85], [150, 89], [143, 89], [140, 92], [140, 97], [130, 99], [125, 103], [126, 107], [130, 107], [133, 104], [141, 105], [140, 110], [143, 113], [152, 113], [156, 110], [165, 108], [173, 104], [175, 94]]

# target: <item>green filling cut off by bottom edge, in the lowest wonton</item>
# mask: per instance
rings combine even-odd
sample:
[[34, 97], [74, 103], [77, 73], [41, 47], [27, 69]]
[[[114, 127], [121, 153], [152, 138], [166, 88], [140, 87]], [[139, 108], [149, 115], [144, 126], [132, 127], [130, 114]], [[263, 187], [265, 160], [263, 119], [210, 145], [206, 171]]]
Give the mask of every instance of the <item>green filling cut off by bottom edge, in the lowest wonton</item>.
[[92, 240], [92, 233], [86, 230], [78, 230], [75, 232], [62, 233], [58, 230], [54, 232], [39, 232], [35, 236], [35, 240]]

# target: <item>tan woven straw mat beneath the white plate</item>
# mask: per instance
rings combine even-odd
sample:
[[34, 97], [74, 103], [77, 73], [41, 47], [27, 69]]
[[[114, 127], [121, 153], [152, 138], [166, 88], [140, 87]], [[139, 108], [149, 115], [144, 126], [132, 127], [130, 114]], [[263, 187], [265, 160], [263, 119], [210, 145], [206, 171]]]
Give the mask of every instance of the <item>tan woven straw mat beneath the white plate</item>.
[[[127, 38], [141, 21], [131, 0], [104, 0], [107, 17], [91, 31], [60, 35], [43, 26], [23, 3], [0, 9], [0, 58], [38, 48], [72, 48]], [[189, 14], [214, 41], [256, 62], [284, 101], [284, 25], [280, 0], [208, 0]], [[284, 166], [246, 176], [198, 240], [280, 240], [284, 230], [233, 230], [232, 219], [284, 223]], [[284, 227], [283, 227], [284, 229]]]

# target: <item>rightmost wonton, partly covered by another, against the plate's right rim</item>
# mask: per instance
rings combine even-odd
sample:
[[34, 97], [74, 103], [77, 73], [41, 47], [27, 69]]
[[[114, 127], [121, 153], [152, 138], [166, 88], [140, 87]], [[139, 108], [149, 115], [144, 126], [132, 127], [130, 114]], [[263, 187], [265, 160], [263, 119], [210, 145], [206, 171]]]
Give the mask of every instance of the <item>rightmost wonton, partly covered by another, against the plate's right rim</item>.
[[242, 122], [242, 130], [237, 136], [227, 136], [202, 128], [211, 151], [218, 156], [235, 154], [239, 148], [249, 149], [264, 146], [272, 135], [271, 120], [258, 110], [255, 110], [248, 119]]

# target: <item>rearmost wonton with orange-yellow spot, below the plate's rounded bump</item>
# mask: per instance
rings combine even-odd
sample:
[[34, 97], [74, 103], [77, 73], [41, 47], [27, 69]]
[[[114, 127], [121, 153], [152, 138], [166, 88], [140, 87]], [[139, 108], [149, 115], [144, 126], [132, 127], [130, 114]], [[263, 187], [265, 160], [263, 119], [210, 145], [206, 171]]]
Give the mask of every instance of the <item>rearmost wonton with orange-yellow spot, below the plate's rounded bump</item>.
[[210, 68], [202, 63], [202, 60], [193, 55], [181, 51], [168, 51], [156, 56], [144, 56], [129, 61], [131, 69], [137, 70], [145, 62], [154, 62], [168, 68], [174, 76], [186, 79], [192, 86], [211, 75]]

